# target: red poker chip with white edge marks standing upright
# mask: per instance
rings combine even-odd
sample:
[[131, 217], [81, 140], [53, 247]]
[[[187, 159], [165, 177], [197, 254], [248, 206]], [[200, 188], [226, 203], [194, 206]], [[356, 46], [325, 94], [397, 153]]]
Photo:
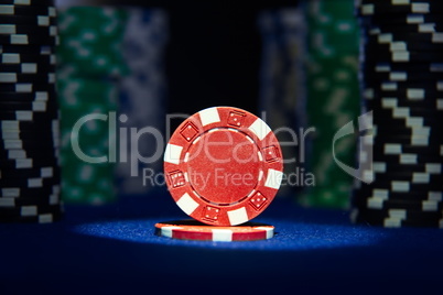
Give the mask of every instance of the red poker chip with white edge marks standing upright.
[[191, 116], [164, 152], [166, 184], [175, 203], [213, 226], [236, 226], [261, 214], [280, 187], [282, 171], [282, 152], [271, 129], [231, 107]]

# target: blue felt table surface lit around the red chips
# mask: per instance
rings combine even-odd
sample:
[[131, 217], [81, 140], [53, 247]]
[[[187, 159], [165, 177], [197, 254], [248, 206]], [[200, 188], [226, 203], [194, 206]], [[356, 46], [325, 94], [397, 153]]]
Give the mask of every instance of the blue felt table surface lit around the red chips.
[[64, 220], [52, 225], [0, 225], [0, 294], [151, 294], [155, 287], [227, 294], [239, 286], [404, 294], [443, 285], [439, 229], [354, 226], [347, 211], [282, 198], [253, 220], [275, 227], [267, 241], [154, 236], [154, 223], [186, 218], [160, 192], [101, 207], [66, 206]]

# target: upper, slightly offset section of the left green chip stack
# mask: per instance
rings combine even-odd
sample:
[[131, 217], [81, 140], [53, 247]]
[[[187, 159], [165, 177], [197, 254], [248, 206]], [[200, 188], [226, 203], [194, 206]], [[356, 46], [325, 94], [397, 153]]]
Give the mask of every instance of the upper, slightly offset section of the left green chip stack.
[[72, 7], [60, 11], [58, 62], [83, 76], [125, 76], [121, 55], [127, 12], [118, 8]]

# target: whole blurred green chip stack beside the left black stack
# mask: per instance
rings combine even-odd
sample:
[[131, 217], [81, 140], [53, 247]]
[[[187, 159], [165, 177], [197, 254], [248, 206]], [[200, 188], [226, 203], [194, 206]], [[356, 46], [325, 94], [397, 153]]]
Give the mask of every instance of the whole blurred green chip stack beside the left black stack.
[[68, 203], [116, 199], [118, 80], [128, 73], [121, 56], [126, 18], [110, 7], [58, 11], [62, 190]]

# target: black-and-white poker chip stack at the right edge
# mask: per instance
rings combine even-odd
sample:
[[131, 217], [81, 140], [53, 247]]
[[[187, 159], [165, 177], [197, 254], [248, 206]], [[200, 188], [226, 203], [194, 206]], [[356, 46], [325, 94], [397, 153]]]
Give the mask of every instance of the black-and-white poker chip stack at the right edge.
[[359, 0], [356, 10], [363, 102], [372, 111], [360, 144], [372, 168], [356, 183], [352, 220], [443, 227], [443, 2]]

